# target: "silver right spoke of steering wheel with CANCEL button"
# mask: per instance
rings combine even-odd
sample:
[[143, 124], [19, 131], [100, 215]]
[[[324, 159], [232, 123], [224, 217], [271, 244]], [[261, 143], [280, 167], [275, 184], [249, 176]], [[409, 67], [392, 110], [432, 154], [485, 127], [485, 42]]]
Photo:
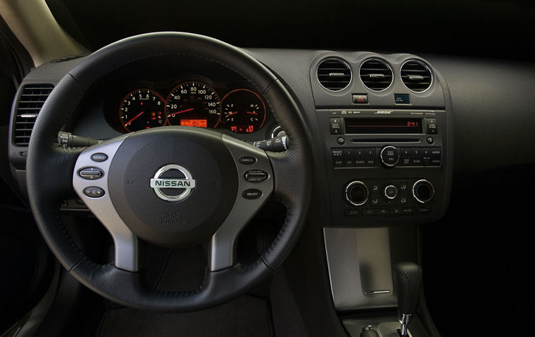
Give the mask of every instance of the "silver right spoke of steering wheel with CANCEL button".
[[236, 263], [236, 242], [241, 230], [262, 208], [273, 191], [273, 171], [265, 151], [223, 135], [238, 172], [238, 191], [227, 219], [212, 236], [208, 267], [217, 271]]

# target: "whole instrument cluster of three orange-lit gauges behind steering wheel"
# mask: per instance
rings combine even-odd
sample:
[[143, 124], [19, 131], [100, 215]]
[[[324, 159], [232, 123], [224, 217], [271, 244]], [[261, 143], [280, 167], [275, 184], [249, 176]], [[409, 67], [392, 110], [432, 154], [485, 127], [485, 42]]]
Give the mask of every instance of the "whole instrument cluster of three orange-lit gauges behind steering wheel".
[[[130, 90], [118, 104], [115, 120], [123, 132], [182, 125], [251, 134], [265, 124], [268, 111], [260, 94], [244, 86], [189, 80], [172, 89]], [[124, 94], [124, 93], [123, 93]]]

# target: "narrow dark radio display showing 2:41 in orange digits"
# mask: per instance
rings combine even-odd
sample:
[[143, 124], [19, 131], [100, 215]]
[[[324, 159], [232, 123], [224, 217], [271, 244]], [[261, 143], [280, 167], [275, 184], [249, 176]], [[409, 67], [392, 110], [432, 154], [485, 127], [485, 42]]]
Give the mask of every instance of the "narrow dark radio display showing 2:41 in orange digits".
[[421, 134], [422, 118], [346, 118], [346, 134]]

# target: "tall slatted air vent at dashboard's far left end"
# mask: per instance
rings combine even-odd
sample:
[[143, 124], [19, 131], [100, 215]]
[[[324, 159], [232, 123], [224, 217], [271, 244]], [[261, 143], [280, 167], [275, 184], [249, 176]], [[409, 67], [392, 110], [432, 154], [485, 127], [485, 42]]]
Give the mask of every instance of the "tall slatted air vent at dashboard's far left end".
[[28, 146], [30, 134], [44, 101], [53, 89], [52, 84], [26, 84], [20, 94], [15, 117], [13, 140], [16, 146]]

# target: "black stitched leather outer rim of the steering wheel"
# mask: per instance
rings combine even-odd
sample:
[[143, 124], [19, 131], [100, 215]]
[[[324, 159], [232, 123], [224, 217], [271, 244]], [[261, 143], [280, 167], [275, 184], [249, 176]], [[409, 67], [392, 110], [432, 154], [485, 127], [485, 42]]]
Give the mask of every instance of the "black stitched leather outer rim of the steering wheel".
[[[77, 247], [61, 224], [58, 205], [73, 190], [75, 162], [84, 148], [62, 148], [56, 136], [73, 115], [86, 91], [113, 70], [158, 56], [191, 56], [219, 63], [239, 73], [262, 93], [277, 122], [291, 139], [282, 153], [267, 152], [274, 177], [273, 197], [287, 208], [282, 229], [251, 265], [232, 265], [206, 272], [196, 291], [154, 291], [139, 272], [113, 263], [99, 265]], [[27, 157], [27, 190], [34, 218], [46, 243], [63, 267], [96, 293], [143, 310], [200, 310], [230, 300], [265, 279], [282, 264], [303, 229], [310, 201], [312, 163], [310, 134], [289, 91], [264, 65], [238, 49], [197, 34], [160, 32], [120, 40], [92, 53], [53, 89], [32, 131]], [[298, 172], [298, 174], [296, 174]]]

